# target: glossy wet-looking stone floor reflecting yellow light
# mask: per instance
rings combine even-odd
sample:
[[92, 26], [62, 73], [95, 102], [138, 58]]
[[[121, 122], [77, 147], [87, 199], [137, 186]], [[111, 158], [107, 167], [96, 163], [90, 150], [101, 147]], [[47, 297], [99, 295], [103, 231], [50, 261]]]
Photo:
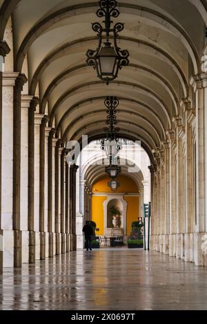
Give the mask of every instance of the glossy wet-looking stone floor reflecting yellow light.
[[7, 268], [0, 289], [1, 310], [207, 310], [207, 269], [125, 247]]

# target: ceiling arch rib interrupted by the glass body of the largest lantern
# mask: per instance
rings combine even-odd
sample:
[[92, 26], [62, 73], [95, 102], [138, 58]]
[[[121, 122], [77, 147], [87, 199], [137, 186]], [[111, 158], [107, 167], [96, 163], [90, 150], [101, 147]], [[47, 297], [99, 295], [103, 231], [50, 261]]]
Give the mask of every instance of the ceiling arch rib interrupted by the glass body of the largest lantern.
[[[141, 65], [137, 65], [137, 64], [130, 64], [129, 67], [134, 68], [134, 71], [137, 71], [137, 70], [144, 71], [144, 72], [146, 72], [148, 77], [150, 77], [151, 79], [157, 80], [161, 85], [164, 86], [164, 88], [167, 89], [168, 93], [170, 94], [170, 97], [172, 98], [172, 101], [173, 101], [175, 107], [179, 106], [179, 99], [177, 97], [175, 90], [172, 88], [170, 83], [168, 83], [168, 80], [165, 79], [164, 77], [162, 77], [161, 74], [155, 72], [154, 70], [152, 70], [150, 68], [147, 68], [147, 67], [141, 66]], [[87, 67], [87, 68], [89, 69], [90, 67]], [[59, 74], [58, 77], [56, 77], [55, 79], [52, 80], [50, 85], [48, 85], [46, 92], [43, 94], [43, 99], [41, 101], [41, 113], [45, 112], [46, 103], [48, 101], [48, 98], [50, 97], [50, 94], [52, 93], [52, 90], [54, 90], [57, 87], [57, 85], [59, 85], [59, 83], [61, 83], [61, 81], [69, 79], [72, 72], [77, 72], [82, 69], [86, 69], [85, 64], [77, 65], [73, 68], [70, 68], [70, 69], [62, 72], [61, 74]]]

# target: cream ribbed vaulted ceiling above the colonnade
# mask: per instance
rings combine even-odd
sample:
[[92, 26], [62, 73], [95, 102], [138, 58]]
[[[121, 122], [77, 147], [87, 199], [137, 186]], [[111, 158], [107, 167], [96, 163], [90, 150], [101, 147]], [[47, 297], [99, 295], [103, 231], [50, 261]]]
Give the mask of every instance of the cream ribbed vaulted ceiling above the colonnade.
[[[201, 72], [207, 23], [206, 0], [120, 0], [125, 23], [119, 44], [130, 65], [106, 85], [86, 66], [97, 48], [91, 23], [101, 22], [90, 0], [0, 1], [0, 39], [12, 11], [14, 70], [26, 73], [28, 94], [63, 141], [103, 136], [106, 96], [120, 101], [121, 136], [140, 139], [150, 152], [166, 139], [180, 101], [189, 94], [189, 67]], [[4, 26], [4, 27], [3, 27]], [[190, 72], [191, 73], [191, 72]]]

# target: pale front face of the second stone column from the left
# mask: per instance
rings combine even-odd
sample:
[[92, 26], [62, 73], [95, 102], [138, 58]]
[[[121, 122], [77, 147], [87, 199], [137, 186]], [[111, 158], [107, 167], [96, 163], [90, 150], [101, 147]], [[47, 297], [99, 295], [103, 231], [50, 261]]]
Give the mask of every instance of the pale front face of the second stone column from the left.
[[29, 110], [33, 96], [21, 96], [21, 231], [22, 263], [29, 263], [30, 232], [28, 224]]

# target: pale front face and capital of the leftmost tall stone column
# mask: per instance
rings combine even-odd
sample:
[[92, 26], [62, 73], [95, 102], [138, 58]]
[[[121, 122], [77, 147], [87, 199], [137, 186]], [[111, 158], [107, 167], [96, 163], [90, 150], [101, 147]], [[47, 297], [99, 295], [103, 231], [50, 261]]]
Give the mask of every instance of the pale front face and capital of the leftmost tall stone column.
[[3, 266], [14, 267], [13, 232], [13, 98], [14, 85], [19, 73], [3, 73], [2, 90], [2, 157], [1, 157], [1, 228], [3, 230]]

